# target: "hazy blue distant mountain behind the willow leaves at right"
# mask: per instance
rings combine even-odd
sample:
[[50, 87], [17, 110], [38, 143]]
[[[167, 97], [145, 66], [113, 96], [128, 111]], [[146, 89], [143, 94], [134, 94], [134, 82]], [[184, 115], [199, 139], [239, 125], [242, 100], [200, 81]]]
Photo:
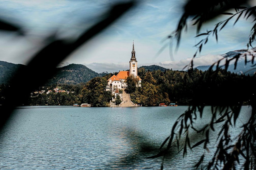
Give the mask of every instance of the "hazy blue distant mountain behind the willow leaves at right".
[[[254, 55], [256, 55], [256, 53], [255, 53], [256, 47], [249, 49], [249, 51], [251, 53], [254, 53]], [[221, 56], [225, 57], [227, 59], [230, 59], [230, 58], [232, 58], [232, 57], [234, 57], [238, 54], [243, 54], [243, 53], [246, 53], [246, 52], [247, 52], [247, 49], [240, 49], [240, 50], [229, 51], [228, 53], [222, 54]], [[228, 71], [231, 71], [231, 72], [234, 72], [234, 73], [237, 73], [237, 74], [253, 75], [256, 70], [251, 70], [253, 67], [252, 67], [252, 64], [249, 60], [251, 60], [251, 57], [247, 58], [248, 62], [245, 65], [244, 58], [240, 57], [238, 62], [237, 62], [236, 70], [234, 70], [234, 61], [233, 61], [229, 64]], [[205, 70], [208, 70], [210, 68], [210, 66], [197, 66], [196, 68], [199, 69], [199, 70], [205, 71]], [[225, 68], [225, 66], [222, 66], [221, 68]], [[216, 69], [216, 67], [214, 67], [214, 69]]]

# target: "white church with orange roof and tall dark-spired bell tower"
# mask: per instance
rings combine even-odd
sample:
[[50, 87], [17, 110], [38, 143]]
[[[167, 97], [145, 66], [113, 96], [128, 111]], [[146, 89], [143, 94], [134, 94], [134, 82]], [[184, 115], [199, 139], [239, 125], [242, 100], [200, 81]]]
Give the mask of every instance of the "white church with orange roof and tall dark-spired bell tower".
[[111, 90], [112, 93], [115, 93], [114, 89], [126, 88], [126, 84], [124, 81], [126, 77], [132, 74], [138, 78], [138, 86], [141, 87], [141, 78], [138, 76], [138, 62], [135, 57], [134, 42], [132, 45], [132, 57], [129, 63], [130, 71], [119, 71], [117, 75], [113, 75], [112, 77], [110, 77], [110, 79], [108, 80], [108, 85], [106, 86], [106, 91]]

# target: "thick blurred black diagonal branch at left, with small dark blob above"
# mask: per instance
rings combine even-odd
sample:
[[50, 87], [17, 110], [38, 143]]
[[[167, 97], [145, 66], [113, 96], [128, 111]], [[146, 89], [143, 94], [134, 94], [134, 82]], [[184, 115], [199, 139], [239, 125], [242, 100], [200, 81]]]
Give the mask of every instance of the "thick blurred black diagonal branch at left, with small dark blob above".
[[[14, 96], [14, 92], [10, 92], [10, 94], [6, 97], [5, 103], [1, 106], [1, 110], [6, 110], [5, 113], [2, 113], [1, 125], [6, 122], [15, 106], [19, 106], [24, 98], [28, 97], [27, 94], [29, 94], [31, 88], [39, 87], [46, 83], [49, 78], [51, 78], [44, 76], [40, 79], [36, 79], [37, 75], [52, 75], [55, 73], [58, 64], [68, 55], [70, 55], [72, 51], [76, 50], [90, 38], [108, 27], [112, 22], [118, 19], [122, 14], [124, 14], [125, 11], [134, 5], [135, 3], [133, 1], [115, 4], [108, 12], [106, 12], [104, 18], [102, 18], [101, 21], [93, 25], [88, 30], [85, 30], [74, 41], [58, 39], [54, 35], [49, 36], [49, 38], [47, 38], [47, 41], [49, 42], [48, 45], [46, 45], [32, 57], [32, 59], [28, 62], [27, 67], [19, 69], [17, 74], [14, 75], [12, 79], [10, 79], [10, 87], [14, 87], [19, 84], [20, 88], [24, 90], [20, 93], [19, 96], [16, 97], [15, 104], [11, 102], [12, 96]], [[3, 22], [0, 29], [15, 31], [17, 33], [22, 30], [21, 28], [7, 22]], [[44, 60], [51, 61], [53, 56], [58, 56], [58, 58], [52, 62], [49, 62], [47, 68], [37, 64], [42, 60], [42, 58]], [[20, 82], [24, 83], [20, 84]]]

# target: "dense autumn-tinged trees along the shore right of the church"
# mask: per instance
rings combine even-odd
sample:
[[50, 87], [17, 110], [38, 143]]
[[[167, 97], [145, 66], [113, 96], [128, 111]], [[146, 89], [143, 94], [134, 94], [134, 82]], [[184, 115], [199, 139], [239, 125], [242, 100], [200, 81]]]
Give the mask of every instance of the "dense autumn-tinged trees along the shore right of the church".
[[[234, 104], [236, 101], [249, 103], [251, 94], [244, 93], [240, 88], [246, 82], [256, 82], [255, 77], [238, 75], [224, 69], [212, 72], [210, 79], [207, 80], [204, 78], [206, 74], [209, 72], [198, 69], [189, 69], [187, 72], [169, 69], [164, 72], [160, 70], [146, 72], [141, 76], [142, 87], [136, 87], [136, 90], [130, 94], [131, 99], [134, 103], [143, 106], [158, 106], [159, 103], [169, 102], [179, 105], [198, 103], [222, 105]], [[251, 84], [248, 87], [253, 89]], [[196, 100], [190, 100], [192, 98]]]

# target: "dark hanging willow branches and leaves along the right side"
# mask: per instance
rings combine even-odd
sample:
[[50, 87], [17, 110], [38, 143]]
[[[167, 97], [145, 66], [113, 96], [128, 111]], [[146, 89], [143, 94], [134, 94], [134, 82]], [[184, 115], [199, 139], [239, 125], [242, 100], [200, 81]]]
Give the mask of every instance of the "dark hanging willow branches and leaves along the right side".
[[[189, 17], [194, 17], [192, 21], [194, 21], [193, 25], [197, 25], [196, 37], [205, 36], [205, 38], [195, 45], [197, 47], [193, 56], [193, 58], [195, 58], [197, 54], [201, 52], [202, 47], [207, 43], [210, 35], [215, 36], [216, 41], [218, 41], [218, 32], [221, 31], [233, 17], [237, 17], [234, 24], [236, 24], [241, 17], [246, 19], [249, 17], [255, 18], [256, 6], [248, 7], [248, 4], [246, 3], [247, 1], [190, 0], [184, 7], [184, 13], [178, 23], [177, 29], [169, 35], [167, 39], [170, 40], [170, 43], [176, 39], [178, 48], [182, 31], [187, 28], [187, 20]], [[234, 9], [236, 13], [232, 14], [226, 12], [229, 9]], [[201, 26], [205, 22], [210, 21], [212, 18], [219, 15], [229, 15], [230, 17], [217, 23], [214, 29], [205, 33], [200, 33]], [[238, 54], [230, 59], [221, 59], [226, 60], [224, 64], [225, 70], [227, 70], [229, 63], [232, 60], [234, 61], [234, 69], [236, 69], [238, 59], [241, 57], [244, 57], [245, 64], [247, 62], [251, 62], [253, 65], [252, 69], [256, 69], [254, 64], [254, 51], [249, 50], [249, 46], [252, 47], [252, 43], [255, 41], [256, 19], [253, 20], [253, 23], [255, 24], [251, 29], [251, 34], [247, 44], [248, 51], [244, 54]], [[250, 58], [250, 60], [247, 60], [247, 58]], [[245, 81], [245, 79], [231, 80], [234, 81], [234, 83], [238, 83], [240, 86], [234, 85], [230, 87], [225, 86], [227, 84], [224, 83], [222, 84], [222, 88], [212, 91], [211, 84], [214, 83], [214, 79], [217, 77], [216, 75], [219, 72], [219, 68], [222, 67], [220, 66], [221, 60], [213, 63], [204, 76], [198, 80], [198, 89], [194, 89], [194, 93], [196, 95], [190, 99], [193, 104], [189, 106], [188, 110], [177, 119], [172, 127], [170, 136], [166, 138], [160, 147], [162, 150], [157, 155], [150, 157], [155, 158], [163, 156], [161, 169], [163, 169], [165, 155], [173, 146], [177, 146], [178, 150], [183, 152], [183, 156], [188, 152], [188, 148], [193, 149], [199, 146], [203, 147], [207, 152], [209, 150], [207, 147], [209, 138], [211, 138], [211, 136], [209, 136], [209, 132], [216, 131], [214, 128], [216, 124], [221, 125], [219, 133], [218, 131], [215, 132], [218, 133], [218, 138], [216, 139], [218, 143], [216, 151], [209, 162], [205, 161], [205, 154], [203, 153], [200, 160], [198, 160], [198, 163], [195, 163], [195, 167], [200, 169], [256, 169], [256, 99], [253, 87], [255, 85], [255, 80], [254, 78], [248, 79], [248, 81]], [[216, 70], [213, 71], [212, 68], [215, 65]], [[193, 59], [184, 68], [186, 67], [193, 68]], [[188, 80], [191, 79], [188, 78]], [[246, 87], [247, 85], [249, 86], [248, 88]], [[229, 133], [229, 129], [235, 128], [234, 126], [236, 125], [237, 118], [240, 114], [242, 100], [244, 97], [249, 97], [249, 104], [252, 108], [251, 115], [247, 123], [242, 126], [243, 130], [236, 137], [236, 141], [231, 141], [230, 135], [232, 134]], [[211, 100], [212, 103], [212, 115], [209, 118], [209, 122], [203, 128], [197, 129], [195, 127], [196, 120], [199, 119], [199, 117], [204, 116], [203, 111], [205, 103], [209, 100]], [[198, 138], [198, 142], [191, 145], [191, 132], [196, 132], [204, 137]], [[165, 144], [167, 145], [166, 147], [164, 147]]]

